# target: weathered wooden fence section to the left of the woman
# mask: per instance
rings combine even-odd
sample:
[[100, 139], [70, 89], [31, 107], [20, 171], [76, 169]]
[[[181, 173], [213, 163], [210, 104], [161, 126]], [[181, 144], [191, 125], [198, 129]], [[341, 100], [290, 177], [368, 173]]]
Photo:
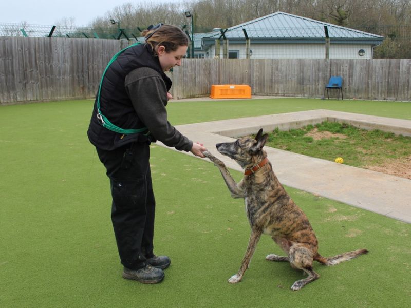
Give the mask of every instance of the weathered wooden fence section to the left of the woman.
[[117, 40], [0, 37], [0, 103], [89, 98]]

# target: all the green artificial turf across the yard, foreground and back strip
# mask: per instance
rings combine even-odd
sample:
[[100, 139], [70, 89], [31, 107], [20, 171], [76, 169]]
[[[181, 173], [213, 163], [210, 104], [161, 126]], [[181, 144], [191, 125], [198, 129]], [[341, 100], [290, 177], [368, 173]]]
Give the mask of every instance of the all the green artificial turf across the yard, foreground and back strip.
[[[409, 103], [327, 103], [403, 119], [411, 109]], [[167, 108], [171, 122], [183, 124], [325, 105], [280, 99], [177, 102]], [[408, 305], [410, 224], [288, 187], [309, 217], [322, 255], [363, 247], [370, 253], [333, 267], [316, 263], [321, 278], [293, 292], [292, 283], [304, 276], [286, 262], [266, 261], [267, 254], [281, 251], [264, 236], [244, 280], [229, 284], [249, 237], [242, 200], [230, 197], [213, 164], [156, 145], [155, 252], [169, 255], [172, 265], [158, 285], [122, 279], [108, 179], [86, 137], [91, 108], [92, 101], [0, 107], [1, 307]]]

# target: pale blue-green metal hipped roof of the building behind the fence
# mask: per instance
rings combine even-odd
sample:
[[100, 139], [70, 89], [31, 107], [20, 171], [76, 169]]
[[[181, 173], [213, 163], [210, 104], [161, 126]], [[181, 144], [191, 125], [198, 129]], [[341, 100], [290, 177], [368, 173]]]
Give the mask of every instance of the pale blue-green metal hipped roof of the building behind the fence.
[[[248, 37], [253, 42], [258, 40], [273, 40], [275, 41], [273, 43], [284, 43], [285, 41], [290, 43], [290, 40], [295, 42], [324, 42], [324, 26], [327, 26], [328, 28], [328, 34], [331, 41], [337, 40], [344, 43], [348, 43], [348, 41], [356, 41], [356, 43], [368, 44], [380, 44], [383, 41], [383, 37], [380, 35], [324, 23], [311, 18], [284, 12], [276, 12], [234, 27], [230, 27], [227, 29], [227, 32], [225, 32], [225, 36], [230, 41], [245, 40], [245, 34], [243, 31], [243, 29], [245, 29]], [[210, 38], [204, 38], [204, 42], [206, 44], [210, 44], [212, 40], [215, 40], [220, 36], [220, 32], [214, 32]]]

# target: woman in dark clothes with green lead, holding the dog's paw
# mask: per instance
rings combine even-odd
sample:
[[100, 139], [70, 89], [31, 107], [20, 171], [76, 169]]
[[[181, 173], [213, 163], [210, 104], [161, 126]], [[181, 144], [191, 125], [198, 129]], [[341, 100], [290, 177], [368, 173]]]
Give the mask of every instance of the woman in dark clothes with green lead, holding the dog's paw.
[[145, 44], [117, 53], [103, 73], [90, 126], [90, 142], [110, 179], [113, 222], [123, 277], [142, 283], [163, 280], [167, 256], [153, 252], [155, 199], [150, 172], [150, 143], [159, 140], [177, 150], [204, 157], [167, 121], [172, 98], [164, 71], [181, 65], [188, 38], [178, 27], [158, 24], [145, 32]]

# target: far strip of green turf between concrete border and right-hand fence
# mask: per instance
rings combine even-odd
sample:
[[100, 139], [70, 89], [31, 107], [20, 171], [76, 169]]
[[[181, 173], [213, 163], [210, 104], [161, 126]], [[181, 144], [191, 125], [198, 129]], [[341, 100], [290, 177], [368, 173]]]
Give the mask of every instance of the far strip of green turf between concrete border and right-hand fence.
[[171, 101], [169, 119], [174, 125], [255, 117], [257, 115], [315, 109], [354, 112], [380, 117], [411, 120], [411, 102], [353, 101], [321, 99], [254, 99], [179, 102]]

